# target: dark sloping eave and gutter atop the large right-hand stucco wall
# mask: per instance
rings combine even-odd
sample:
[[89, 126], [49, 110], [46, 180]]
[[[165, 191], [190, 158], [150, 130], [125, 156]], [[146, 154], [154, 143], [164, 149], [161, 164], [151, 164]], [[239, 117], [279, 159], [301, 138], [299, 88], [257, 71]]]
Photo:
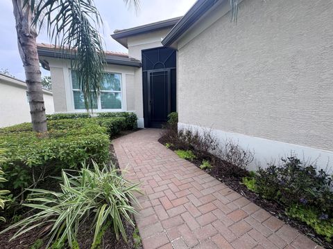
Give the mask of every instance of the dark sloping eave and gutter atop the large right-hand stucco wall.
[[163, 46], [171, 46], [173, 42], [193, 26], [200, 17], [210, 10], [219, 0], [198, 0], [189, 11], [173, 26], [168, 35], [162, 40]]

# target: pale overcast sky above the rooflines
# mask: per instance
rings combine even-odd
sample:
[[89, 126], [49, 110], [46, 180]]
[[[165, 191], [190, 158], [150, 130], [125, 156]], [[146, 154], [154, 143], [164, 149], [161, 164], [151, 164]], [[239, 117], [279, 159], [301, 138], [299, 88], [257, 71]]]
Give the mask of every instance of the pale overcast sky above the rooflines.
[[[185, 15], [196, 0], [140, 0], [140, 8], [128, 8], [122, 0], [95, 0], [103, 20], [101, 37], [105, 49], [127, 52], [112, 37], [113, 31], [149, 24], [173, 17]], [[44, 30], [37, 37], [37, 42], [50, 44], [51, 41]], [[20, 80], [24, 80], [24, 68], [17, 49], [15, 19], [12, 14], [12, 0], [0, 0], [0, 71], [8, 71]], [[42, 71], [42, 75], [49, 75]]]

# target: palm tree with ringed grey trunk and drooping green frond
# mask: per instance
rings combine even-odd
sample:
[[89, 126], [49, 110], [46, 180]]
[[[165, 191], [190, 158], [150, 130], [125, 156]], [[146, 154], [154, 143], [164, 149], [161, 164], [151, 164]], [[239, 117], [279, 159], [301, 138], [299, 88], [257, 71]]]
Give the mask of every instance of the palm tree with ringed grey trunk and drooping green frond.
[[[139, 0], [123, 0], [137, 8]], [[74, 53], [72, 67], [78, 71], [86, 108], [100, 93], [103, 45], [98, 28], [102, 24], [94, 0], [12, 0], [17, 45], [26, 74], [33, 131], [47, 132], [40, 63], [36, 38], [46, 26], [51, 40], [64, 53]]]

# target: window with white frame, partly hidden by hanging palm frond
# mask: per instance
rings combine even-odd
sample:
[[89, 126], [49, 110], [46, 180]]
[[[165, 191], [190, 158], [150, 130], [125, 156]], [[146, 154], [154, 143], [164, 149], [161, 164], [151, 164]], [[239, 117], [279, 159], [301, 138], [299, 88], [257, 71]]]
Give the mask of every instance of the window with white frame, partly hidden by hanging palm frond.
[[[78, 84], [76, 71], [71, 71], [71, 84], [73, 86], [74, 109], [85, 109], [85, 99]], [[121, 109], [120, 73], [104, 73], [103, 82], [101, 82], [101, 95], [94, 100], [92, 109]]]

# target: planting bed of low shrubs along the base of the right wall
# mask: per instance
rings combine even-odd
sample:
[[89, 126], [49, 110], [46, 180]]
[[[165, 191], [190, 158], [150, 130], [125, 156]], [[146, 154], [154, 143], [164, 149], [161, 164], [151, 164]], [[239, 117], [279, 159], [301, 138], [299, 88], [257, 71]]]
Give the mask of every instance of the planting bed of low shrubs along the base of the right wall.
[[271, 164], [258, 172], [248, 172], [254, 151], [244, 150], [230, 140], [219, 145], [210, 131], [178, 129], [176, 113], [172, 116], [160, 138], [165, 147], [176, 153], [191, 151], [196, 157], [187, 159], [191, 163], [321, 246], [333, 248], [333, 186], [327, 170], [318, 170], [293, 155], [282, 158], [282, 165]]

